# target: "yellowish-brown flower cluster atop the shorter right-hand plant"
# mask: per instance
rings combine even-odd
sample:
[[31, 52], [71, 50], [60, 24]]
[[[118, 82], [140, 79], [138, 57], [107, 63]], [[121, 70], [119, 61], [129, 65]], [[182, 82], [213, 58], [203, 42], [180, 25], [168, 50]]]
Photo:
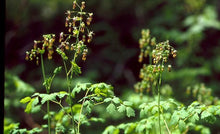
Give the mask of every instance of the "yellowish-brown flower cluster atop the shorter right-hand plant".
[[[169, 41], [156, 43], [156, 38], [150, 37], [148, 29], [142, 30], [141, 34], [142, 38], [139, 40], [141, 49], [139, 62], [142, 62], [143, 57], [147, 56], [150, 58], [150, 63], [153, 61], [153, 64], [143, 65], [139, 74], [141, 82], [134, 86], [136, 92], [143, 93], [144, 90], [149, 92], [157, 85], [159, 75], [165, 70], [165, 63], [170, 56], [175, 58], [177, 51], [169, 44]], [[171, 65], [168, 65], [167, 69], [170, 72]]]

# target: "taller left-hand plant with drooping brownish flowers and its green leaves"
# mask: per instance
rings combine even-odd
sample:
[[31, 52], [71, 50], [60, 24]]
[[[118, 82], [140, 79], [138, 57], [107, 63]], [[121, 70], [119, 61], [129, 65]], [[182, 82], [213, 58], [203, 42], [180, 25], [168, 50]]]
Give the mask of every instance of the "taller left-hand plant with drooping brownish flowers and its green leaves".
[[[115, 111], [125, 112], [128, 117], [135, 116], [134, 110], [131, 108], [132, 103], [123, 102], [114, 96], [113, 87], [106, 83], [78, 83], [72, 86], [74, 76], [80, 75], [81, 67], [77, 63], [77, 59], [81, 57], [82, 61], [86, 61], [88, 53], [88, 44], [92, 41], [94, 33], [89, 29], [93, 19], [93, 13], [85, 12], [86, 2], [81, 3], [74, 0], [72, 10], [66, 11], [65, 27], [67, 32], [60, 32], [58, 41], [55, 34], [43, 35], [43, 40], [35, 40], [33, 48], [26, 52], [25, 59], [34, 61], [37, 65], [41, 64], [43, 75], [43, 86], [46, 93], [35, 92], [32, 96], [25, 97], [20, 100], [26, 105], [25, 112], [35, 113], [43, 110], [42, 105], [46, 104], [47, 112], [43, 119], [47, 119], [47, 124], [43, 124], [38, 132], [43, 128], [48, 129], [51, 133], [71, 133], [80, 134], [80, 126], [82, 124], [89, 125], [90, 122], [103, 122], [104, 119], [90, 116], [92, 108], [96, 105], [107, 103], [106, 111], [113, 113]], [[56, 45], [58, 44], [58, 45]], [[63, 61], [63, 65], [54, 69], [50, 77], [47, 77], [44, 66], [44, 55], [48, 60], [53, 59], [53, 55], [59, 55]], [[68, 66], [69, 65], [69, 66]], [[51, 85], [58, 73], [65, 70], [66, 88], [53, 92]], [[76, 96], [84, 92], [85, 95], [76, 101]], [[67, 102], [67, 105], [63, 102]], [[77, 102], [77, 103], [74, 103]], [[50, 103], [57, 104], [61, 109], [56, 113], [50, 110]], [[14, 129], [12, 132], [29, 132], [24, 129]], [[32, 132], [32, 131], [31, 131]]]

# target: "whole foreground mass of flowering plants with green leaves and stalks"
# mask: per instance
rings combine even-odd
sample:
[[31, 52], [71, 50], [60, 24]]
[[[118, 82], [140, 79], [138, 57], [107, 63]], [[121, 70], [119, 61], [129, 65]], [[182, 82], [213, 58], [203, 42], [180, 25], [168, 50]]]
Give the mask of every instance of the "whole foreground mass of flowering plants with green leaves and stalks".
[[[177, 56], [177, 50], [168, 40], [157, 42], [148, 29], [141, 32], [138, 61], [144, 64], [140, 70], [140, 81], [134, 85], [136, 93], [130, 95], [130, 98], [122, 100], [115, 96], [113, 86], [104, 82], [78, 83], [72, 86], [74, 78], [82, 73], [78, 60], [86, 61], [88, 44], [94, 36], [89, 28], [93, 13], [84, 11], [86, 2], [74, 0], [72, 6], [72, 10], [65, 13], [67, 32], [60, 32], [59, 39], [55, 34], [43, 35], [43, 39], [35, 40], [33, 49], [26, 52], [26, 60], [41, 65], [45, 92], [35, 92], [21, 99], [20, 103], [26, 104], [26, 113], [43, 112], [42, 118], [47, 123], [30, 130], [19, 128], [19, 123], [5, 124], [5, 133], [80, 134], [82, 125], [105, 121], [104, 118], [92, 114], [96, 106], [102, 104], [106, 106], [106, 111], [103, 112], [110, 115], [122, 113], [134, 118], [131, 122], [106, 127], [103, 134], [211, 133], [202, 124], [212, 124], [219, 118], [220, 101], [211, 95], [211, 90], [204, 84], [187, 88], [185, 94], [194, 100], [188, 105], [173, 98], [173, 89], [163, 83], [162, 75], [164, 71], [172, 71], [172, 65], [168, 63]], [[52, 60], [54, 55], [59, 56], [63, 64], [46, 72], [44, 60], [46, 57]], [[51, 88], [53, 80], [60, 73], [66, 76], [66, 89], [54, 92]], [[79, 94], [84, 95], [78, 99]], [[52, 103], [60, 109], [51, 110]]]

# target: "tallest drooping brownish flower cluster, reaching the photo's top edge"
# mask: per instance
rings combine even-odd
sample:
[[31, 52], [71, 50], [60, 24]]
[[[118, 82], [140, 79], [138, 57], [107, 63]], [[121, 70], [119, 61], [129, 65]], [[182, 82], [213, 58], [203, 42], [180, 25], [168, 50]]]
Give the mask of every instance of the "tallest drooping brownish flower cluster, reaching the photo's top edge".
[[[79, 11], [77, 11], [77, 8]], [[68, 10], [66, 12], [65, 27], [68, 28], [68, 34], [64, 32], [60, 33], [59, 42], [60, 46], [57, 51], [64, 57], [64, 51], [70, 50], [75, 51], [75, 56], [82, 54], [82, 60], [86, 60], [86, 55], [88, 53], [86, 43], [90, 43], [93, 38], [93, 31], [89, 31], [87, 26], [91, 24], [93, 19], [93, 13], [84, 12], [85, 2], [81, 2], [79, 5], [76, 0], [73, 2], [73, 11]], [[75, 42], [70, 44], [69, 40], [71, 38], [75, 39]], [[62, 52], [60, 52], [60, 50]], [[66, 58], [65, 58], [66, 59]]]

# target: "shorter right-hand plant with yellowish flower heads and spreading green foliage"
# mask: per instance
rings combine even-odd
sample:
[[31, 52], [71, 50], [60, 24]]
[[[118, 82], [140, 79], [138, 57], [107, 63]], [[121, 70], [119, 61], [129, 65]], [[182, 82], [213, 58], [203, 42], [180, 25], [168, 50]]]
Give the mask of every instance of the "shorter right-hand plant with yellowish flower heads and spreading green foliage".
[[[135, 91], [140, 93], [139, 100], [138, 98], [129, 100], [136, 102], [135, 109], [139, 110], [140, 119], [116, 126], [110, 125], [106, 127], [103, 134], [121, 132], [126, 134], [185, 134], [191, 131], [209, 134], [209, 128], [199, 121], [215, 122], [217, 116], [220, 116], [218, 99], [213, 99], [210, 90], [204, 85], [187, 89], [187, 95], [192, 93], [194, 98], [197, 97], [197, 100], [188, 106], [174, 98], [161, 97], [162, 73], [165, 70], [171, 71], [171, 65], [167, 65], [168, 59], [175, 58], [177, 50], [170, 45], [169, 41], [156, 43], [156, 38], [150, 37], [148, 29], [142, 30], [141, 33], [139, 62], [149, 57], [149, 62], [146, 61], [149, 64], [143, 65], [139, 75], [141, 81], [134, 85]], [[147, 93], [152, 91], [153, 97], [144, 95], [145, 91]], [[204, 99], [212, 98], [213, 105], [211, 103], [207, 105], [205, 100], [201, 101], [203, 96]]]

